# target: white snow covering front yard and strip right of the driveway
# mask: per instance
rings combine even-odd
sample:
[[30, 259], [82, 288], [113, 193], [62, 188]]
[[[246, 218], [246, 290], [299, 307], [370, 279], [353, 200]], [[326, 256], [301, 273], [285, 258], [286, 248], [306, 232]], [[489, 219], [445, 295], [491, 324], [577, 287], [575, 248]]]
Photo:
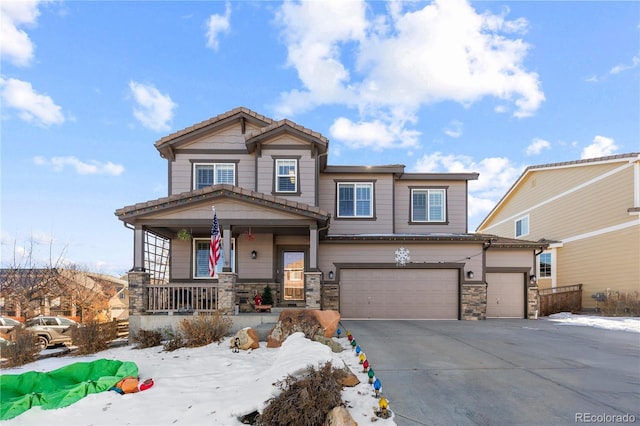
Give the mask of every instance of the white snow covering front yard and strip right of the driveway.
[[[598, 316], [555, 314], [541, 321], [563, 325], [580, 325], [640, 333], [640, 318], [604, 318]], [[344, 333], [343, 333], [344, 336]], [[357, 339], [357, 336], [354, 336]], [[358, 356], [346, 338], [334, 338], [345, 350], [333, 353], [300, 333], [291, 336], [281, 348], [269, 349], [261, 342], [259, 349], [233, 353], [229, 338], [221, 344], [165, 352], [161, 347], [132, 349], [131, 346], [109, 349], [92, 356], [65, 356], [43, 359], [20, 368], [2, 370], [2, 374], [25, 371], [50, 371], [64, 365], [99, 358], [133, 361], [142, 379], [153, 378], [154, 387], [135, 393], [92, 394], [77, 403], [58, 410], [32, 408], [4, 422], [6, 425], [241, 425], [239, 417], [261, 410], [276, 395], [274, 383], [287, 374], [295, 374], [309, 365], [331, 361], [336, 366], [347, 364], [360, 379], [360, 384], [345, 388], [342, 399], [360, 425], [395, 425], [393, 418], [375, 417], [378, 406], [368, 377], [363, 373]], [[366, 347], [362, 351], [366, 354]], [[370, 360], [375, 364], [375, 360]], [[382, 383], [384, 393], [384, 383]], [[393, 395], [389, 408], [393, 412]]]

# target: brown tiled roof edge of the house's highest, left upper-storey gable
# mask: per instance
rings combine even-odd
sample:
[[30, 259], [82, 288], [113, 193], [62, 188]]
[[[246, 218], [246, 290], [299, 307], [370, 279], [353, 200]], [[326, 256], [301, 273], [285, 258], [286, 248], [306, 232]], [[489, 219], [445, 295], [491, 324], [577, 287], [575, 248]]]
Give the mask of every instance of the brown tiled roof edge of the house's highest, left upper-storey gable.
[[216, 115], [215, 117], [211, 117], [208, 120], [201, 121], [193, 126], [171, 133], [170, 135], [158, 140], [155, 143], [155, 147], [160, 151], [162, 158], [173, 159], [175, 148], [189, 143], [194, 138], [208, 133], [211, 130], [227, 126], [229, 123], [236, 120], [241, 121], [243, 125], [243, 132], [246, 122], [254, 123], [260, 127], [268, 126], [273, 123], [273, 120], [269, 117], [265, 117], [264, 115], [258, 114], [257, 112], [251, 111], [245, 107], [238, 107], [223, 114]]

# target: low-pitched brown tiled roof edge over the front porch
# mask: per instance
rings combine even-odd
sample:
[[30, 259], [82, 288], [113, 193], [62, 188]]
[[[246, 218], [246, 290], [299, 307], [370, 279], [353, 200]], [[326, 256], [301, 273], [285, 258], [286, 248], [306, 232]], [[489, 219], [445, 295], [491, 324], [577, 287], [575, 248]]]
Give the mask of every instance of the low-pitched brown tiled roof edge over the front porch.
[[327, 222], [330, 217], [328, 212], [309, 204], [289, 201], [284, 198], [274, 197], [272, 195], [266, 195], [228, 184], [213, 185], [195, 191], [182, 192], [169, 197], [158, 198], [145, 203], [138, 203], [118, 209], [115, 214], [120, 220], [132, 223], [135, 218], [147, 213], [158, 213], [162, 210], [168, 210], [175, 207], [184, 208], [189, 204], [199, 203], [206, 200], [215, 200], [220, 197], [228, 197], [246, 201], [250, 204], [285, 210], [290, 213], [299, 214], [301, 216], [306, 216], [323, 222]]

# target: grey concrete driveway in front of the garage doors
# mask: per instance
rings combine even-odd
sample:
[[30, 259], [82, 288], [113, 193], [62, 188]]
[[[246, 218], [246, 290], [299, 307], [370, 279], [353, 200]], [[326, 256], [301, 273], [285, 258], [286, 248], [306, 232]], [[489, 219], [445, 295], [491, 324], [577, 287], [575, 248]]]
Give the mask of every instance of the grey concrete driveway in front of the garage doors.
[[399, 426], [640, 424], [638, 333], [524, 319], [342, 324]]

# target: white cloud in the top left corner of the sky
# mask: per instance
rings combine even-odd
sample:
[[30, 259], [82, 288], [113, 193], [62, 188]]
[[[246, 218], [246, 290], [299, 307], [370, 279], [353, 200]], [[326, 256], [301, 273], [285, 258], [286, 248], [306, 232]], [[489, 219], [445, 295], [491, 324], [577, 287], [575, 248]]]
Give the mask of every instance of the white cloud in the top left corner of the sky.
[[36, 24], [40, 16], [40, 3], [39, 0], [0, 2], [0, 53], [3, 60], [19, 67], [28, 66], [33, 61], [35, 47], [21, 27]]

